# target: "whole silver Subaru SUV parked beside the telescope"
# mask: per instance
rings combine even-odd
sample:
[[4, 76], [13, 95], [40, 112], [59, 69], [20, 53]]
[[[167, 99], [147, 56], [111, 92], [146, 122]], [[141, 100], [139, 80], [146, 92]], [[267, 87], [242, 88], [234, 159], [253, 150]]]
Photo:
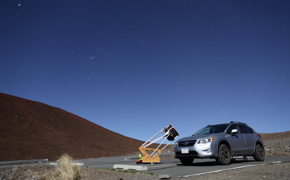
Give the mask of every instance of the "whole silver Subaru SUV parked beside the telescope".
[[237, 156], [252, 156], [256, 161], [265, 158], [261, 136], [240, 122], [206, 126], [174, 145], [174, 158], [184, 165], [191, 165], [195, 158], [211, 158], [220, 165], [228, 165]]

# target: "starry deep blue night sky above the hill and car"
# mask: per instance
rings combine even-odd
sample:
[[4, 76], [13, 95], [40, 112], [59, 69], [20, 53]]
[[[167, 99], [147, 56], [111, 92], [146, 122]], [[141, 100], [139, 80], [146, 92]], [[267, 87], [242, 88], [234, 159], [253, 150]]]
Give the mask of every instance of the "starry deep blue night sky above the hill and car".
[[4, 0], [0, 92], [143, 141], [289, 131], [289, 33], [289, 1]]

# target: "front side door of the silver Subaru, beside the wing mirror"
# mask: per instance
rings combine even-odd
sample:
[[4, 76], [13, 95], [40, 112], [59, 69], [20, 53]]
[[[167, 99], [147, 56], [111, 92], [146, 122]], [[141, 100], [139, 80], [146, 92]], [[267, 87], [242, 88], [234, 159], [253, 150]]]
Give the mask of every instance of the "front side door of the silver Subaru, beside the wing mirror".
[[[237, 129], [238, 133], [231, 135], [231, 131], [233, 129]], [[232, 153], [244, 153], [247, 152], [246, 140], [244, 138], [244, 134], [241, 133], [240, 129], [238, 128], [238, 124], [233, 124], [227, 130], [229, 134], [229, 139], [231, 141], [231, 150]]]

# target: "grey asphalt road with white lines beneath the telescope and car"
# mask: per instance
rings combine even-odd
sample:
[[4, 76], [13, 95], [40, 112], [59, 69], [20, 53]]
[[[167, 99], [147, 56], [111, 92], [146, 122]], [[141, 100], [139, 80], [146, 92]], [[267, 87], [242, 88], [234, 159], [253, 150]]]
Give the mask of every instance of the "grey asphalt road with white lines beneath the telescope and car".
[[[163, 153], [161, 155], [171, 155], [172, 153]], [[137, 156], [111, 157], [98, 159], [85, 159], [78, 162], [84, 163], [83, 167], [88, 168], [113, 168], [115, 164], [126, 164], [136, 166], [147, 166], [148, 170], [144, 172], [153, 172], [154, 174], [168, 174], [173, 177], [191, 176], [200, 173], [209, 173], [213, 171], [227, 170], [231, 168], [242, 168], [244, 166], [257, 166], [267, 163], [290, 161], [290, 157], [266, 157], [263, 162], [255, 161], [249, 157], [248, 161], [236, 159], [228, 166], [220, 166], [215, 159], [194, 159], [191, 166], [184, 166], [179, 159], [160, 159], [160, 163], [136, 164]]]

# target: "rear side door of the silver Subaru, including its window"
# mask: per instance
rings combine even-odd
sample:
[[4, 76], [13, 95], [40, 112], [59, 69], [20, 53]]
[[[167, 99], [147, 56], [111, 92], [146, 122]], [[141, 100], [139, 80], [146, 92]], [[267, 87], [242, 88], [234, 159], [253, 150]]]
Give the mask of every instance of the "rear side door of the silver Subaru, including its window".
[[241, 130], [241, 133], [244, 134], [247, 152], [254, 152], [257, 141], [257, 137], [255, 136], [254, 131], [251, 130], [251, 128], [248, 128], [247, 126], [241, 124], [239, 124], [238, 126]]

